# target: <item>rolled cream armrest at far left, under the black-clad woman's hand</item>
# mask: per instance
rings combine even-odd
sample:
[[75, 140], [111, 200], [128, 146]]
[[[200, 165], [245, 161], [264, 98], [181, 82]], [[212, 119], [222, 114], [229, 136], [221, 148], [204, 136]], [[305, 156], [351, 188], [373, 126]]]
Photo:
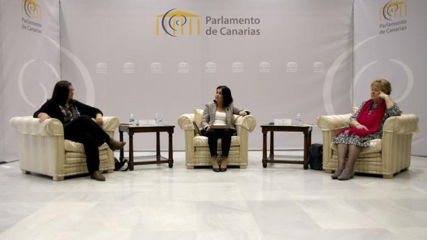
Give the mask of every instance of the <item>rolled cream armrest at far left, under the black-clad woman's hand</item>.
[[64, 127], [56, 118], [48, 118], [43, 123], [39, 123], [39, 118], [13, 117], [10, 119], [10, 125], [17, 132], [36, 136], [63, 136]]

